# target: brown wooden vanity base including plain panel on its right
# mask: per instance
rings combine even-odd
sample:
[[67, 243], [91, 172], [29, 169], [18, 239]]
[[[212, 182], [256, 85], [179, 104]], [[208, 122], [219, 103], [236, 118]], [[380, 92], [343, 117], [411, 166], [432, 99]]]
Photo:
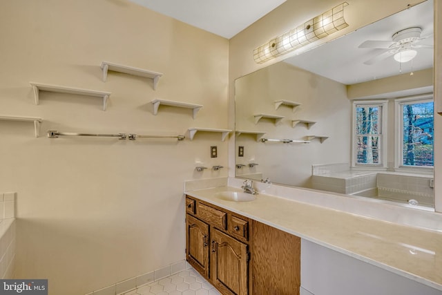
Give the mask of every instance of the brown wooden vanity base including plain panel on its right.
[[299, 294], [300, 238], [191, 196], [186, 260], [222, 294]]

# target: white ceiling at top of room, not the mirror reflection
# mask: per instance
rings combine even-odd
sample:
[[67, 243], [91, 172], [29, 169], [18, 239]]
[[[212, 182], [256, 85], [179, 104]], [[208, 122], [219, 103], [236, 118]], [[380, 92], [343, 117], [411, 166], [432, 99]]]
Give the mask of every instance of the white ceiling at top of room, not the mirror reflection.
[[286, 0], [131, 0], [230, 39]]

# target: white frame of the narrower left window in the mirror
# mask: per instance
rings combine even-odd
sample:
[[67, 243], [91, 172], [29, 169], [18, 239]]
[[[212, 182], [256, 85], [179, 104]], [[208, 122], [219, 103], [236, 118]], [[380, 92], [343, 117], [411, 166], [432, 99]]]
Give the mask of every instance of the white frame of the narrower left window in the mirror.
[[[379, 164], [357, 164], [358, 145], [356, 143], [356, 107], [359, 106], [381, 106], [381, 127], [379, 132]], [[355, 100], [352, 108], [352, 167], [363, 169], [380, 169], [387, 167], [387, 100]]]

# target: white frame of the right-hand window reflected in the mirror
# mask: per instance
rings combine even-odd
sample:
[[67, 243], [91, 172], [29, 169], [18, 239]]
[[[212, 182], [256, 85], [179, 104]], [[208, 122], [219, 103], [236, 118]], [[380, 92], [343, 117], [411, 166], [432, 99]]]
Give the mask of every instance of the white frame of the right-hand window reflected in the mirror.
[[[433, 173], [434, 166], [403, 166], [403, 108], [401, 107], [403, 104], [410, 102], [434, 102], [433, 94], [429, 95], [419, 95], [414, 97], [406, 97], [399, 98], [394, 100], [394, 118], [395, 118], [395, 126], [394, 126], [394, 170], [395, 171], [416, 171], [419, 173], [427, 172]], [[433, 127], [434, 128], [434, 127]], [[434, 129], [433, 129], [434, 130]], [[434, 149], [434, 146], [433, 146]], [[434, 150], [433, 150], [434, 155]], [[434, 160], [434, 159], [433, 159]]]

